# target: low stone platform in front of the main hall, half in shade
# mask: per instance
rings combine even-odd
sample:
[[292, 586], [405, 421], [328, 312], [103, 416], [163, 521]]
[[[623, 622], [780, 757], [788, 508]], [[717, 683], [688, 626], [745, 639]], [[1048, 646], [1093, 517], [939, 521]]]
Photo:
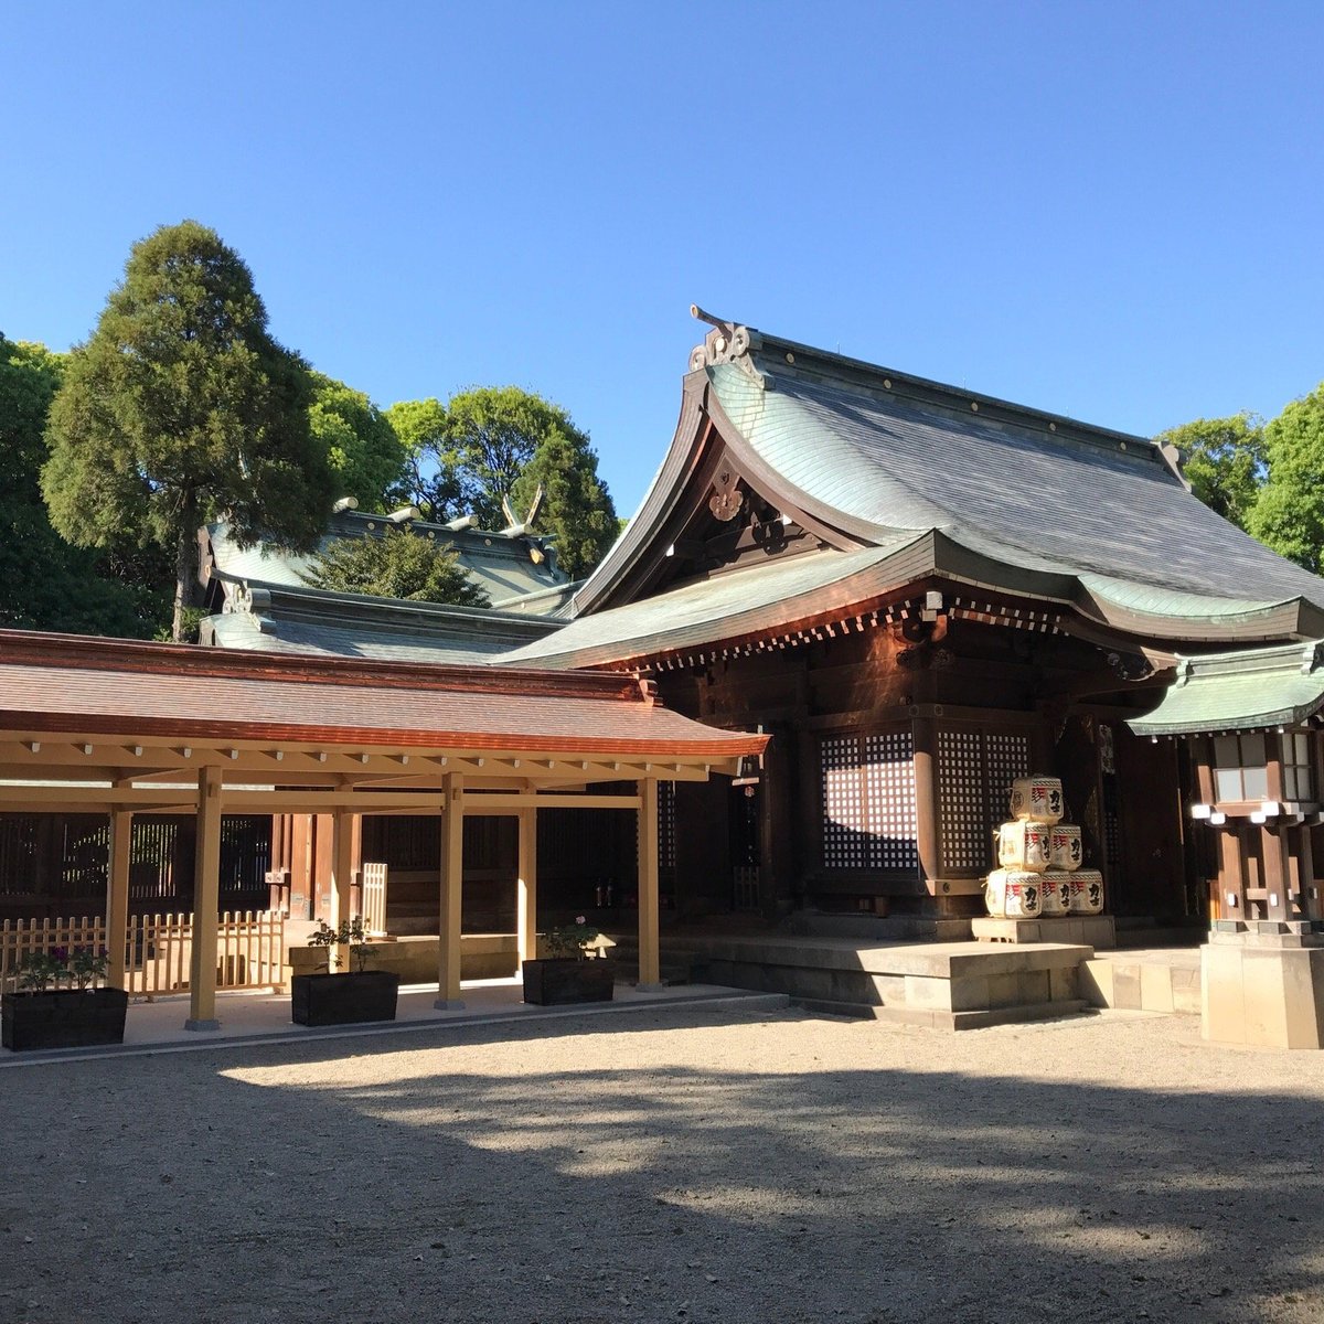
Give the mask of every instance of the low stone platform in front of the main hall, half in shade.
[[786, 993], [813, 1010], [965, 1030], [1082, 1012], [1084, 944], [887, 943], [667, 933], [704, 981]]

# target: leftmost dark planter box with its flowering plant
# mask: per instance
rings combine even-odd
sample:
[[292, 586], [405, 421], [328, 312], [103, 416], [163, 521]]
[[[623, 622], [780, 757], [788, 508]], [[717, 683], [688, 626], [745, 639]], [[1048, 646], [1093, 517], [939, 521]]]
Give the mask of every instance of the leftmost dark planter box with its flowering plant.
[[107, 964], [105, 948], [29, 952], [0, 1000], [0, 1042], [20, 1053], [123, 1043], [128, 994], [103, 985]]

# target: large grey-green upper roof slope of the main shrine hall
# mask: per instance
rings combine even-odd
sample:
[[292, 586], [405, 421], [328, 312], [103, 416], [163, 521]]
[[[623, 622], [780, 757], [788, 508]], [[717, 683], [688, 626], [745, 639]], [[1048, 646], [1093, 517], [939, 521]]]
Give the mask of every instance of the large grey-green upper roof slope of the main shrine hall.
[[764, 385], [736, 364], [707, 369], [722, 410], [769, 469], [854, 527], [937, 528], [1013, 565], [1151, 591], [1158, 616], [1173, 614], [1168, 591], [1188, 594], [1177, 614], [1295, 597], [1324, 608], [1324, 581], [1209, 510], [1151, 442], [798, 376], [767, 352], [753, 361]]

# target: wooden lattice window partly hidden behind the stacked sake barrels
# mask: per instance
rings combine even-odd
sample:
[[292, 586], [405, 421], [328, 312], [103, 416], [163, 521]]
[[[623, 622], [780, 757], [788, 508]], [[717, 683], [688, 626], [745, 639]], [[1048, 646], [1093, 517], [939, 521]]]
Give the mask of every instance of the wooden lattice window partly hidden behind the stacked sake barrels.
[[1010, 812], [1012, 782], [1029, 772], [1026, 731], [939, 730], [937, 824], [944, 873], [993, 867], [993, 831]]

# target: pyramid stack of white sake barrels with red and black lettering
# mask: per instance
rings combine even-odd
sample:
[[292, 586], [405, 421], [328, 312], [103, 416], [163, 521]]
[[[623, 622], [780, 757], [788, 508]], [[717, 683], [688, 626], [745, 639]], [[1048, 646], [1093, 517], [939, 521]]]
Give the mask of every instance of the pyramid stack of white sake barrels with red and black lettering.
[[1080, 829], [1062, 822], [1062, 782], [1018, 777], [1010, 810], [1012, 821], [998, 829], [998, 867], [984, 887], [988, 912], [996, 919], [1098, 915], [1103, 875], [1080, 867]]

